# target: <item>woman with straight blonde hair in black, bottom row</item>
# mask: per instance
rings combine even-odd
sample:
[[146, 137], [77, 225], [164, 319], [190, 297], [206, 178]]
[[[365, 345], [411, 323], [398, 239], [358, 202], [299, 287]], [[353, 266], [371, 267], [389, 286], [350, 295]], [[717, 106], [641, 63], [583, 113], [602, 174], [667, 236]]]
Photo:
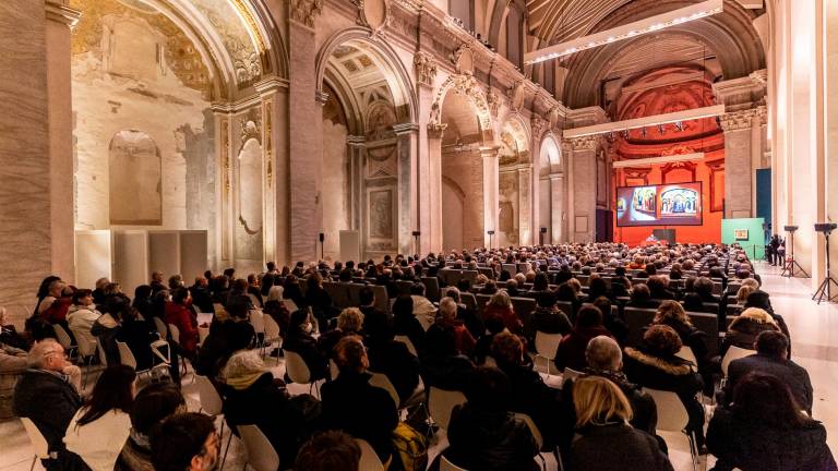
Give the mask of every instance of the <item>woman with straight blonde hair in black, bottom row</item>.
[[[570, 469], [616, 471], [624, 470], [626, 463], [650, 471], [673, 469], [658, 442], [628, 424], [632, 406], [609, 379], [579, 377], [574, 382], [573, 403], [578, 438], [571, 447]], [[609, 452], [603, 454], [603, 449]]]

